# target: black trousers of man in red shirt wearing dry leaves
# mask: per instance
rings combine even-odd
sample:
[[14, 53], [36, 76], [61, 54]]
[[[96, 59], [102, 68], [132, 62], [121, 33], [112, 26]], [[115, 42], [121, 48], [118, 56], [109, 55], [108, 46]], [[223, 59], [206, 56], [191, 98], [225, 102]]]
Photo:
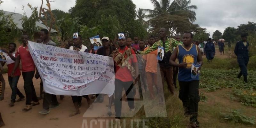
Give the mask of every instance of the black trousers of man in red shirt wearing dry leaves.
[[115, 112], [116, 118], [121, 118], [122, 113], [122, 92], [124, 91], [127, 96], [128, 106], [130, 109], [134, 108], [134, 98], [133, 98], [133, 82], [123, 82], [121, 80], [115, 79]]

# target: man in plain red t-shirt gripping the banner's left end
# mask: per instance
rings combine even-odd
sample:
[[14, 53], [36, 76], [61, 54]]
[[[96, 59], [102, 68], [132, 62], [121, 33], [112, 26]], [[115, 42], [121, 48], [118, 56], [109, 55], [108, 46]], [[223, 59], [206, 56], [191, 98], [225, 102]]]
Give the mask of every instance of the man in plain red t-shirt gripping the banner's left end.
[[[28, 50], [28, 39], [29, 36], [27, 34], [23, 34], [21, 37], [22, 45], [18, 48], [18, 52], [16, 52], [16, 60], [15, 60], [15, 66], [12, 70], [11, 76], [14, 76], [14, 73], [16, 71], [16, 68], [20, 65], [22, 65], [22, 77], [24, 80], [24, 90], [26, 93], [26, 107], [22, 110], [28, 111], [31, 108], [31, 106], [39, 105], [38, 99], [36, 97], [36, 91], [33, 84], [33, 77], [35, 74], [35, 64], [34, 61], [29, 53]], [[33, 102], [32, 102], [33, 101]], [[32, 103], [31, 103], [32, 102]]]

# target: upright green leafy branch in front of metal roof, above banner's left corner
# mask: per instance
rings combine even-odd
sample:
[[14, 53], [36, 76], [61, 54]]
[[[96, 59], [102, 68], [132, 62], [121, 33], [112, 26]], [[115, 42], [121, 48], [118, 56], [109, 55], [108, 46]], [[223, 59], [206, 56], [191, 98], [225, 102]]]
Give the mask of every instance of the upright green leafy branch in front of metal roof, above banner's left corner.
[[[28, 34], [33, 39], [34, 33], [38, 32], [41, 28], [36, 26], [36, 22], [39, 21], [37, 7], [32, 7], [30, 4], [28, 4], [28, 7], [32, 10], [31, 16], [28, 18], [24, 12], [24, 16], [20, 20], [22, 20], [23, 33]], [[24, 10], [24, 6], [22, 8]]]

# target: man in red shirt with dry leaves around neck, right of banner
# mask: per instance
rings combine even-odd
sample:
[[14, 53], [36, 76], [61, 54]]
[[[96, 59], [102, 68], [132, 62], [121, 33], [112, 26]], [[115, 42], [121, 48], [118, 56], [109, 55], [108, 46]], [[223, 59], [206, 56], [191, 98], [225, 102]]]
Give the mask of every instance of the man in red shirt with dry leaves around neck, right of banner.
[[[135, 56], [135, 52], [126, 46], [126, 39], [124, 39], [124, 38], [118, 39], [118, 45], [119, 45], [118, 51], [114, 52], [114, 60], [115, 60], [115, 66], [116, 66], [116, 74], [115, 74], [116, 119], [120, 119], [120, 117], [121, 117], [123, 88], [124, 88], [126, 96], [127, 96], [129, 108], [132, 111], [135, 110], [132, 88], [133, 88], [133, 81], [139, 75], [138, 61]], [[127, 50], [131, 50], [131, 52], [130, 52], [131, 55], [125, 54], [123, 56], [122, 54], [124, 54], [124, 52]], [[127, 61], [129, 63], [128, 65], [126, 63], [124, 67], [120, 67], [120, 63], [124, 63], [124, 62], [118, 61], [122, 57], [125, 57], [125, 61]], [[134, 67], [134, 69], [132, 69], [132, 67]], [[133, 72], [134, 74], [131, 72]], [[136, 78], [136, 80], [137, 80], [137, 78]]]

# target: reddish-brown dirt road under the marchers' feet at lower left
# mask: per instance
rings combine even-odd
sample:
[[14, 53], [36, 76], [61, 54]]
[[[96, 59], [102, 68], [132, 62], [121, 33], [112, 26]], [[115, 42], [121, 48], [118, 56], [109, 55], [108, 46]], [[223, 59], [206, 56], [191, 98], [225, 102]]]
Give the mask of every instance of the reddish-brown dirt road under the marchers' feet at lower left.
[[[60, 107], [51, 109], [48, 115], [41, 115], [38, 113], [38, 111], [42, 109], [43, 100], [40, 100], [40, 105], [34, 106], [28, 112], [22, 111], [22, 108], [25, 106], [25, 100], [16, 102], [14, 107], [9, 107], [8, 104], [11, 100], [12, 90], [8, 83], [7, 74], [4, 74], [4, 79], [6, 81], [5, 97], [4, 100], [0, 101], [0, 111], [4, 119], [4, 123], [6, 124], [3, 128], [81, 128], [83, 121], [87, 121], [88, 128], [90, 128], [91, 126], [89, 126], [89, 124], [92, 119], [114, 119], [113, 117], [102, 118], [102, 116], [107, 116], [107, 95], [104, 97], [103, 103], [93, 103], [92, 109], [88, 109], [87, 111], [86, 109], [88, 106], [86, 100], [83, 98], [82, 107], [80, 108], [81, 114], [73, 117], [68, 116], [74, 111], [74, 106], [70, 96], [65, 96], [64, 100], [60, 100], [60, 97], [57, 96], [58, 101], [60, 102]], [[40, 80], [33, 79], [33, 82], [36, 94], [39, 96]], [[22, 76], [20, 77], [18, 88], [25, 95]], [[126, 105], [127, 103], [124, 104], [124, 106]], [[114, 106], [112, 107], [112, 112], [114, 112]], [[92, 125], [92, 127], [100, 127], [100, 123], [98, 122], [97, 124], [98, 125]]]

